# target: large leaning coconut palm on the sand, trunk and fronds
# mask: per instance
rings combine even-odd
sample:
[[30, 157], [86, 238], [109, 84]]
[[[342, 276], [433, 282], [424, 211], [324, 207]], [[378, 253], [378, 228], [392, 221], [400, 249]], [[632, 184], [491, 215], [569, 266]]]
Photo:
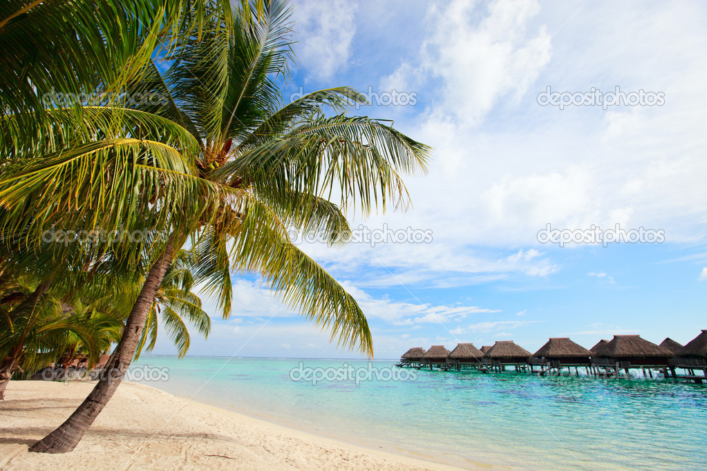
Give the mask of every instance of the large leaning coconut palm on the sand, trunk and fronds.
[[[139, 189], [131, 200], [136, 209], [126, 215], [121, 207], [105, 215], [107, 222], [117, 225], [124, 218], [134, 223], [144, 212], [148, 219], [160, 222], [158, 227], [171, 229], [166, 242], [153, 251], [151, 268], [109, 365], [120, 371], [132, 360], [153, 299], [187, 237], [192, 237], [197, 254], [197, 279], [218, 294], [224, 314], [230, 312], [230, 273], [254, 271], [269, 280], [286, 304], [329, 330], [339, 345], [372, 352], [366, 317], [356, 301], [291, 244], [286, 228], [321, 229], [332, 242], [346, 241], [350, 230], [341, 208], [356, 205], [368, 213], [373, 207], [385, 209], [391, 198], [396, 205], [407, 203], [399, 172], [424, 169], [428, 148], [382, 121], [328, 116], [327, 106], [343, 111], [351, 100], [363, 102], [361, 95], [348, 88], [322, 90], [283, 105], [276, 75], [286, 74], [291, 54], [286, 6], [281, 1], [269, 2], [263, 19], [257, 21], [240, 11], [230, 14], [208, 16], [200, 37], [192, 35], [178, 44], [168, 56], [173, 65], [167, 73], [148, 65], [141, 80], [131, 83], [132, 90], [167, 93], [166, 105], [120, 111], [123, 117], [143, 124], [133, 131], [160, 130], [178, 138], [178, 152], [160, 153], [157, 145], [138, 149], [143, 144], [133, 141], [130, 159], [120, 161], [100, 152], [75, 154], [73, 160], [57, 157], [52, 168], [36, 165], [28, 172], [24, 165], [23, 173], [0, 186], [0, 198], [11, 207], [20, 205], [22, 194], [42, 208], [47, 203], [71, 201], [72, 193], [63, 187], [58, 195], [49, 196], [41, 183], [57, 175], [59, 168], [63, 177], [78, 160], [103, 158], [115, 166], [115, 175], [129, 176], [134, 175], [130, 170], [137, 161], [140, 171], [150, 175], [149, 179], [128, 179], [131, 189]], [[228, 23], [233, 28], [226, 28]], [[110, 124], [108, 117], [117, 111], [92, 113]], [[68, 185], [71, 191], [86, 188], [87, 175], [78, 172], [78, 178]], [[329, 201], [332, 191], [339, 193], [339, 205]], [[85, 193], [100, 205], [101, 201], [124, 201], [126, 192], [98, 189]], [[156, 203], [145, 203], [154, 196]], [[185, 207], [187, 201], [192, 203]], [[180, 212], [179, 205], [187, 210]], [[82, 210], [70, 209], [76, 214]], [[76, 222], [79, 216], [62, 217]], [[20, 221], [28, 221], [27, 215], [13, 213], [12, 226]], [[43, 227], [40, 220], [30, 224], [29, 230], [36, 237]], [[110, 400], [119, 379], [99, 381], [74, 415], [31, 451], [73, 449]]]

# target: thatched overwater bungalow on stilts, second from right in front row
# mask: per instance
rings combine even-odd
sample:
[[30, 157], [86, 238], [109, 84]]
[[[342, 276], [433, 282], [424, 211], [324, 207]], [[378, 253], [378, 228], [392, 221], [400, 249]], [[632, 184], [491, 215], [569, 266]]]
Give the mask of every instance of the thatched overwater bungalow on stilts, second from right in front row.
[[624, 369], [627, 376], [631, 368], [643, 369], [644, 376], [648, 369], [651, 377], [653, 377], [650, 371], [652, 368], [664, 370], [665, 376], [667, 376], [667, 369], [670, 368], [674, 376], [674, 368], [668, 362], [671, 358], [670, 351], [648, 342], [640, 335], [614, 335], [611, 341], [592, 352], [592, 364], [604, 371], [613, 370], [615, 374], [619, 373], [619, 369]]

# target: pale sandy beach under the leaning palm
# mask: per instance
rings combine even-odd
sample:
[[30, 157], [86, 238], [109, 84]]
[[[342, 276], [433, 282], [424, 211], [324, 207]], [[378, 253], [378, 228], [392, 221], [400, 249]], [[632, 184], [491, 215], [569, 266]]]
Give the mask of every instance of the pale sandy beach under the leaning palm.
[[310, 435], [123, 383], [76, 450], [29, 453], [93, 383], [12, 381], [0, 403], [1, 470], [426, 470], [445, 465]]

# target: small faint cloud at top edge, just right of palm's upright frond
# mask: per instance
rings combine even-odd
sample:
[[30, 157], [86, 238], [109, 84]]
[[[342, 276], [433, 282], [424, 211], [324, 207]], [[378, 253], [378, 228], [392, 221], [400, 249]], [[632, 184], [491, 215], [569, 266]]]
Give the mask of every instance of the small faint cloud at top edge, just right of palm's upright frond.
[[298, 3], [293, 15], [298, 61], [315, 78], [327, 80], [346, 67], [356, 34], [355, 13], [356, 4], [352, 1]]

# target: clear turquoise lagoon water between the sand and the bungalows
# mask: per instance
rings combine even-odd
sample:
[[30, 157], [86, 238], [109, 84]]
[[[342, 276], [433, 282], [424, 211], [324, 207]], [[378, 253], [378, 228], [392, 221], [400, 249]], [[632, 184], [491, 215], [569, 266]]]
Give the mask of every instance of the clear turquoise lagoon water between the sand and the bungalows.
[[[153, 355], [134, 367], [168, 368], [168, 381], [141, 382], [175, 395], [453, 465], [707, 469], [707, 386], [423, 370], [404, 370], [414, 381], [312, 384], [291, 379], [300, 362], [368, 369], [359, 360]], [[394, 363], [372, 366], [399, 373]]]

